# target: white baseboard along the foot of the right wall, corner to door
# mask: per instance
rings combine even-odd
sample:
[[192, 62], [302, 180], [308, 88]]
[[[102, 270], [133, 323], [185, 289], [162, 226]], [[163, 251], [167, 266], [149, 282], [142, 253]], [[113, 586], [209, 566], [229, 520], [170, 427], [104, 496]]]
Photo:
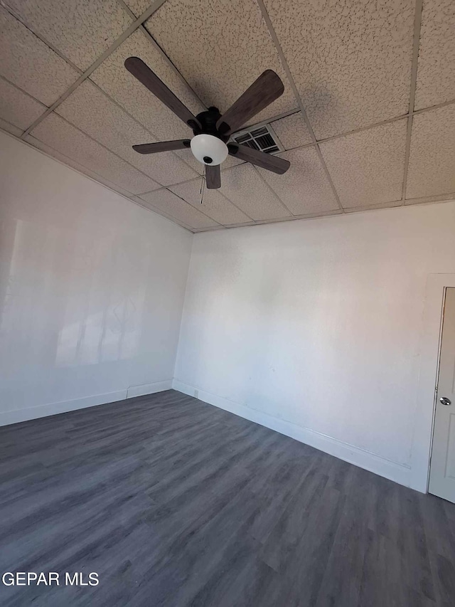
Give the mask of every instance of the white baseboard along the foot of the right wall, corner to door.
[[[174, 390], [178, 390], [189, 396], [194, 396], [194, 391], [198, 390], [198, 398], [200, 401], [225, 409], [225, 411], [235, 413], [237, 416], [259, 423], [261, 426], [290, 436], [295, 440], [299, 440], [301, 443], [311, 445], [311, 447], [324, 451], [329, 455], [334, 455], [336, 458], [344, 460], [345, 462], [359, 466], [359, 468], [364, 468], [365, 470], [369, 470], [370, 472], [398, 482], [400, 485], [405, 485], [405, 487], [412, 486], [410, 466], [392, 462], [380, 457], [380, 455], [375, 455], [375, 453], [370, 453], [369, 451], [360, 449], [354, 445], [343, 443], [342, 440], [326, 436], [325, 434], [310, 430], [310, 428], [297, 426], [295, 423], [269, 416], [267, 413], [263, 413], [262, 411], [245, 405], [240, 405], [239, 403], [228, 400], [228, 398], [222, 398], [221, 396], [206, 392], [196, 386], [185, 384], [183, 381], [178, 381], [178, 379], [173, 380], [172, 387]], [[418, 487], [412, 488], [419, 489]]]

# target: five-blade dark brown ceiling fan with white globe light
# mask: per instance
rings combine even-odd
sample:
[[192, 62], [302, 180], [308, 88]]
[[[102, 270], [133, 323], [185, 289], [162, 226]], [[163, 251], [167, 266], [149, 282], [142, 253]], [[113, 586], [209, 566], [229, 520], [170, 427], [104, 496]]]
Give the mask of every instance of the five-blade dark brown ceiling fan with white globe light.
[[188, 107], [183, 105], [139, 57], [127, 58], [125, 68], [183, 120], [193, 130], [194, 135], [191, 139], [134, 145], [133, 149], [139, 154], [191, 148], [194, 157], [205, 164], [208, 189], [217, 189], [221, 186], [220, 164], [225, 161], [228, 154], [278, 174], [283, 174], [289, 169], [287, 160], [259, 152], [246, 145], [228, 143], [232, 132], [245, 125], [247, 120], [282, 95], [284, 86], [274, 71], [265, 70], [223, 115], [217, 107], [209, 107], [205, 112], [193, 116]]

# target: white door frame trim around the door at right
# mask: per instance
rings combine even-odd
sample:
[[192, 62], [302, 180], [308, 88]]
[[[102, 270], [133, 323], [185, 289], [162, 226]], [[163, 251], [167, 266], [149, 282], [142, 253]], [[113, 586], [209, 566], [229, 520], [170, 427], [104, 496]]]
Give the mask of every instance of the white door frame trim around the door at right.
[[417, 353], [417, 406], [411, 449], [410, 487], [428, 492], [436, 386], [441, 351], [442, 314], [446, 289], [455, 287], [455, 274], [429, 274], [425, 288], [422, 331]]

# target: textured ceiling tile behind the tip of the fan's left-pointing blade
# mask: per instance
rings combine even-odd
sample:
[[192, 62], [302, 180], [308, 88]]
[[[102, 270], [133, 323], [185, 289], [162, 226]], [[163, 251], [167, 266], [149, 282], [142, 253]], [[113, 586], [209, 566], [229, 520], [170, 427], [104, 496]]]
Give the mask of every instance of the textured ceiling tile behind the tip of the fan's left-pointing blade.
[[134, 152], [133, 144], [152, 143], [155, 137], [90, 80], [78, 86], [55, 111], [161, 185], [196, 177], [195, 171], [173, 152], [147, 155]]

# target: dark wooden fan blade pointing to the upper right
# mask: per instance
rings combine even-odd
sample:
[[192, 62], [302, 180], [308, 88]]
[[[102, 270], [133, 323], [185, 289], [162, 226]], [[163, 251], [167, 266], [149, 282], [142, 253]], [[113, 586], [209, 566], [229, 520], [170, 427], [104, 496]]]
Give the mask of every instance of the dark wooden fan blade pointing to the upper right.
[[272, 70], [265, 70], [220, 117], [216, 123], [218, 130], [222, 134], [230, 134], [240, 129], [247, 120], [278, 99], [283, 91], [284, 85], [279, 75]]

